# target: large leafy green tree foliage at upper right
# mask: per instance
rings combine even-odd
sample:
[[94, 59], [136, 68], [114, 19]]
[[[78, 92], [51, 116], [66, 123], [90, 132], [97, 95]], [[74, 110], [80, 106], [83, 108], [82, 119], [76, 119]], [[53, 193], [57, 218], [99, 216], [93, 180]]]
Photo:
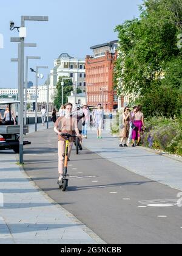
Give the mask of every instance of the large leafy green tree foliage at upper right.
[[[151, 109], [147, 111], [145, 97], [151, 97], [153, 110], [163, 109], [163, 115], [170, 115], [166, 111], [168, 101], [164, 104], [161, 97], [171, 99], [169, 91], [174, 97], [182, 91], [182, 48], [177, 45], [182, 30], [182, 0], [144, 1], [140, 18], [126, 21], [115, 30], [119, 38], [114, 76], [118, 94], [130, 94], [146, 104], [147, 115]], [[177, 99], [177, 103], [171, 99], [170, 105], [179, 107], [181, 97]]]

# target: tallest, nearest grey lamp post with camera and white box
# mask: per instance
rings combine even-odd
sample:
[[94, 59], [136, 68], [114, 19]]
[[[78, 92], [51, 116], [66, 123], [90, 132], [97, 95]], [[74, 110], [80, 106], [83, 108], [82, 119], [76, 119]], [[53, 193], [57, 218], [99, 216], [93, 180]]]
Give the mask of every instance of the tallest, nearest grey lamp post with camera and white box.
[[19, 38], [18, 43], [21, 43], [21, 58], [20, 58], [20, 90], [19, 90], [19, 99], [20, 99], [20, 127], [19, 127], [19, 163], [23, 163], [23, 137], [24, 137], [24, 40], [26, 37], [26, 28], [25, 21], [48, 21], [48, 16], [21, 16], [21, 27], [15, 27], [15, 23], [10, 21], [10, 30], [18, 29]]

